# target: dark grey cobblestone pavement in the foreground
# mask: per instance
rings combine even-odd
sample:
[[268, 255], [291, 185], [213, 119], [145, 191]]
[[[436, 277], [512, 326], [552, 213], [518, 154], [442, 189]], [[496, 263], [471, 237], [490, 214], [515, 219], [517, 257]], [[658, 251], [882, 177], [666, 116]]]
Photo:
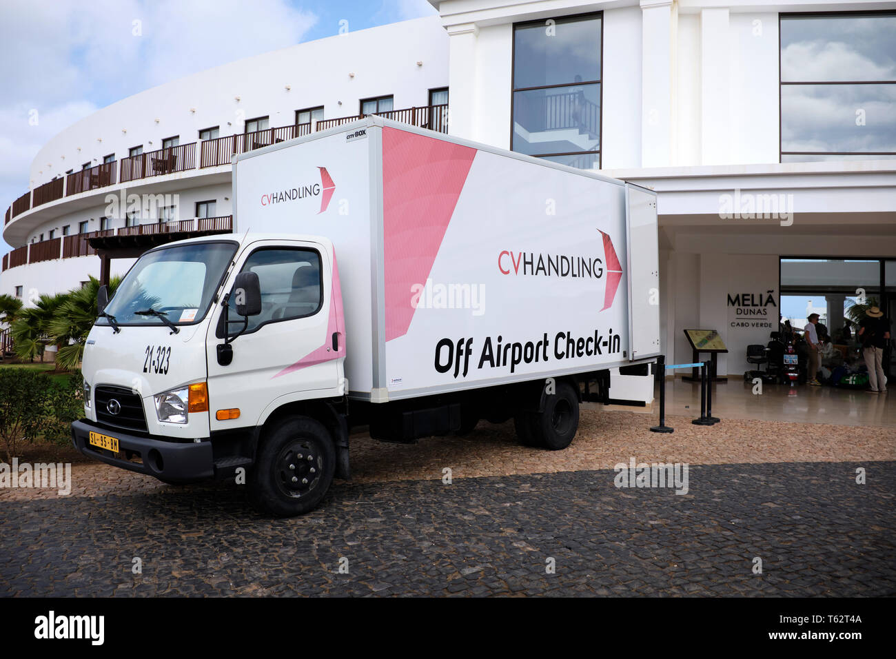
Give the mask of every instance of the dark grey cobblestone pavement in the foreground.
[[896, 594], [896, 462], [692, 465], [683, 496], [615, 475], [338, 482], [289, 520], [231, 484], [6, 500], [0, 595]]

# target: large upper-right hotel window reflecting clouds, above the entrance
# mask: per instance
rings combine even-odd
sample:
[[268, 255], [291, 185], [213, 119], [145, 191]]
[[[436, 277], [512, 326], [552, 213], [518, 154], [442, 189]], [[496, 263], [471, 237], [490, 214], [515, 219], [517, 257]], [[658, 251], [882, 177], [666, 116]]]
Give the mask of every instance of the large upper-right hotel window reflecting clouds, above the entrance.
[[896, 158], [896, 13], [780, 14], [780, 160]]

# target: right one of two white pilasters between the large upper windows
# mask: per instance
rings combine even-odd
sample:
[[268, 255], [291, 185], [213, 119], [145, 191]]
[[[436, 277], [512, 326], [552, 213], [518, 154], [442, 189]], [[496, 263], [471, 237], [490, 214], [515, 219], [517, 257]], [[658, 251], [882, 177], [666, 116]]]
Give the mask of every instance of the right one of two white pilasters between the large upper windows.
[[731, 160], [728, 9], [700, 13], [702, 164], [726, 165]]

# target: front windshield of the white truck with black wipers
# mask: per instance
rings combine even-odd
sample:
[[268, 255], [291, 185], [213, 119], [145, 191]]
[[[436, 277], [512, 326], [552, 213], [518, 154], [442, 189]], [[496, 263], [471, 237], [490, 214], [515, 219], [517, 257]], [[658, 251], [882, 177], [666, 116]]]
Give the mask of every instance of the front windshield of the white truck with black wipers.
[[[236, 251], [237, 244], [228, 241], [147, 252], [119, 284], [105, 312], [116, 325], [163, 325], [153, 317], [159, 314], [177, 325], [198, 323]], [[109, 325], [108, 317], [99, 317], [97, 325]]]

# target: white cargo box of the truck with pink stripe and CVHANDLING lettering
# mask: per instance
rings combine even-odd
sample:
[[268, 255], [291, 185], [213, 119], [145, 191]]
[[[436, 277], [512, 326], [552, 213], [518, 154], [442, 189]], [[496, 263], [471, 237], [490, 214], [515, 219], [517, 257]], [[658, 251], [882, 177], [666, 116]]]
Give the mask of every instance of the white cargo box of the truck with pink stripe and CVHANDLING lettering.
[[350, 397], [659, 353], [651, 191], [374, 117], [327, 133], [237, 157], [235, 231], [332, 240]]

